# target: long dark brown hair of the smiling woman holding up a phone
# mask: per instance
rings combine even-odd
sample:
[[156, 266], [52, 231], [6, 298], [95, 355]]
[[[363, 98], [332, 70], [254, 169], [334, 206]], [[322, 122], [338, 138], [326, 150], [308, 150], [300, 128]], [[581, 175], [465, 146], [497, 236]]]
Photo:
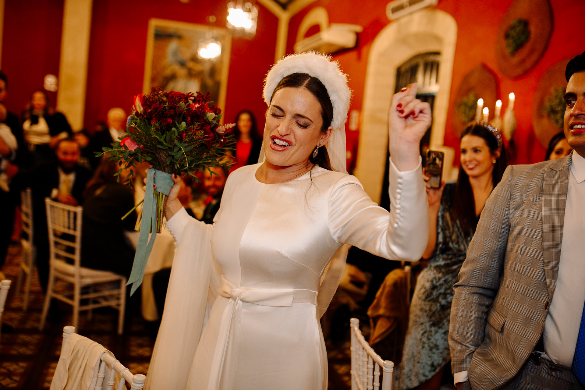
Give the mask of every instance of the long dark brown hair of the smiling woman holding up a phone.
[[[466, 129], [463, 130], [460, 140], [467, 135], [483, 138], [492, 155], [495, 154], [496, 150], [500, 150], [500, 157], [495, 159], [494, 170], [491, 172], [491, 182], [495, 188], [495, 186], [497, 186], [502, 180], [502, 176], [504, 175], [507, 166], [504, 143], [499, 146], [494, 133], [490, 132], [487, 127], [479, 124], [467, 126]], [[455, 196], [453, 196], [453, 206], [451, 210], [455, 219], [459, 220], [459, 225], [464, 234], [475, 232], [477, 226], [475, 198], [473, 197], [473, 189], [469, 182], [469, 176], [463, 170], [462, 164], [459, 164], [459, 177], [457, 178], [457, 184], [455, 186]]]

